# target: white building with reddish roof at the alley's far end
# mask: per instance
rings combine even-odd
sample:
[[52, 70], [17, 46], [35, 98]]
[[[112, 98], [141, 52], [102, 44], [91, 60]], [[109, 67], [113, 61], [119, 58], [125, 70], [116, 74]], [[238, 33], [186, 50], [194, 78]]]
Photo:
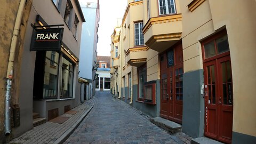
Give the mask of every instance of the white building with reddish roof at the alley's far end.
[[99, 68], [96, 71], [98, 74], [95, 80], [96, 90], [105, 91], [110, 90], [110, 57], [98, 56], [97, 62]]

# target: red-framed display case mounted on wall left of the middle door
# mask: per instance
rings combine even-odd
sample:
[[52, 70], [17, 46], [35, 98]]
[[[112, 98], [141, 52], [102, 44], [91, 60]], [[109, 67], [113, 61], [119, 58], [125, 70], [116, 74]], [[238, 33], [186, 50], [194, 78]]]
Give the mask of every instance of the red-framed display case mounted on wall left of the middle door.
[[144, 85], [144, 103], [156, 105], [156, 81], [150, 81]]

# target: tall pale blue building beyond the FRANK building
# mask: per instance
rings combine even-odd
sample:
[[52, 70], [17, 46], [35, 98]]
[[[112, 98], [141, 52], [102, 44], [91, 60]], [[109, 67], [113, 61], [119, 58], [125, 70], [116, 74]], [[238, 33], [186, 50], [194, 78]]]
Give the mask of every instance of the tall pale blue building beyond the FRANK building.
[[97, 43], [98, 43], [98, 27], [99, 27], [99, 1], [98, 2], [82, 2], [81, 7], [86, 19], [83, 23], [79, 77], [88, 81], [87, 94], [92, 98], [95, 94], [95, 71], [97, 63]]

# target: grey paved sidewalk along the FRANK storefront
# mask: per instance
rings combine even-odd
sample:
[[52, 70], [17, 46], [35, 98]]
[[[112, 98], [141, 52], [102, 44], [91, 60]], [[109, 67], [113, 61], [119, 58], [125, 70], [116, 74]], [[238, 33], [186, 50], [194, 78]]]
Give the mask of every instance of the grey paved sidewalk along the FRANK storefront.
[[63, 134], [65, 134], [68, 130], [74, 129], [74, 123], [81, 119], [82, 116], [85, 116], [86, 111], [88, 112], [88, 110], [93, 107], [94, 101], [95, 98], [92, 98], [84, 102], [82, 105], [72, 109], [78, 111], [75, 115], [61, 115], [64, 117], [69, 117], [69, 119], [62, 124], [46, 122], [34, 127], [26, 133], [23, 133], [20, 135], [20, 137], [12, 139], [10, 143], [54, 143], [59, 138], [62, 138]]

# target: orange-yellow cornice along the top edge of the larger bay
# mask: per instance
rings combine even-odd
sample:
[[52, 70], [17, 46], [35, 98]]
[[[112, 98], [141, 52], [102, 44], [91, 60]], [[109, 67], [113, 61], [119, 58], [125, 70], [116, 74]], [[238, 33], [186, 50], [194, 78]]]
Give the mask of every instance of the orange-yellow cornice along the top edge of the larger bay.
[[150, 18], [146, 25], [142, 29], [142, 33], [145, 34], [148, 29], [155, 24], [158, 23], [166, 23], [166, 22], [173, 22], [173, 21], [180, 21], [181, 20], [181, 14], [174, 14], [174, 15], [165, 15], [162, 17], [155, 17], [155, 18]]

